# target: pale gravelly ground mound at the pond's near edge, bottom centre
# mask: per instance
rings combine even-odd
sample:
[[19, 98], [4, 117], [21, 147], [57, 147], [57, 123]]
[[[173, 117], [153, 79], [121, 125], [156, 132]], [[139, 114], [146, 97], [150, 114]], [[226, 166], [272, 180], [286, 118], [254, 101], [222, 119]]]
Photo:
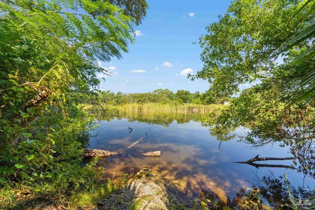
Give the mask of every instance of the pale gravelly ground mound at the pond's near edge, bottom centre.
[[190, 198], [155, 176], [151, 169], [143, 168], [125, 188], [98, 202], [99, 210], [167, 210], [188, 209]]

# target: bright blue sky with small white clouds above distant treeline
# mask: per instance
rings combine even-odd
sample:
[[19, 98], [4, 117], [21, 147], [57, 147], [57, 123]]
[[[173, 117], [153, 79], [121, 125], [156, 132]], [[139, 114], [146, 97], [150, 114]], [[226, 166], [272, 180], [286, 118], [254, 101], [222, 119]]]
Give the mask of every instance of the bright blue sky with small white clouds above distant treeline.
[[[137, 30], [136, 43], [123, 59], [100, 62], [113, 72], [101, 81], [100, 90], [148, 92], [156, 89], [203, 92], [207, 81], [190, 81], [187, 73], [202, 68], [199, 37], [205, 27], [224, 14], [230, 0], [147, 0], [150, 8]], [[104, 75], [97, 75], [98, 78]]]

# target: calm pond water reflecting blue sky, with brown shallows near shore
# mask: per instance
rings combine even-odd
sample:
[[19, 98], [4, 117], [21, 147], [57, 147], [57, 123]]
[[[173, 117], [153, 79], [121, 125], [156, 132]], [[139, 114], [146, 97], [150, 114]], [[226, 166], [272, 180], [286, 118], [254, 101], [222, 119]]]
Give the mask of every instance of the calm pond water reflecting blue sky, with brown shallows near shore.
[[[246, 127], [240, 127], [226, 136], [215, 136], [209, 132], [208, 127], [201, 125], [202, 118], [200, 114], [185, 113], [104, 112], [99, 121], [99, 128], [91, 131], [94, 137], [91, 139], [90, 148], [122, 151], [144, 137], [145, 142], [139, 142], [124, 152], [130, 155], [100, 160], [99, 166], [107, 169], [105, 176], [137, 172], [144, 167], [151, 168], [162, 179], [171, 182], [189, 196], [196, 196], [200, 189], [206, 189], [215, 192], [220, 198], [225, 194], [234, 197], [241, 188], [252, 189], [253, 184], [267, 190], [272, 188], [272, 185], [286, 189], [285, 184], [280, 184], [284, 183], [285, 174], [291, 187], [304, 187], [305, 192], [313, 190], [315, 181], [295, 170], [256, 168], [248, 164], [233, 163], [249, 160], [258, 154], [259, 157], [288, 157], [291, 156], [288, 148], [274, 144], [253, 149], [250, 145], [238, 141], [237, 136], [250, 131]], [[132, 128], [132, 132], [128, 127]], [[161, 151], [160, 157], [132, 155], [157, 150]], [[292, 160], [262, 163], [290, 166]]]

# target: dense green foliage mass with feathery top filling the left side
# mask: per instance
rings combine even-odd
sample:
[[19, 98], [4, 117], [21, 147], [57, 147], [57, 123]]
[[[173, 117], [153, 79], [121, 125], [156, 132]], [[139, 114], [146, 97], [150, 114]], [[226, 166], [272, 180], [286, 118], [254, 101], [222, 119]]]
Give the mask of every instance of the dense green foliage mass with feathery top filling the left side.
[[76, 104], [95, 98], [97, 59], [128, 52], [132, 21], [108, 1], [0, 1], [0, 205], [101, 186], [81, 166], [94, 125]]

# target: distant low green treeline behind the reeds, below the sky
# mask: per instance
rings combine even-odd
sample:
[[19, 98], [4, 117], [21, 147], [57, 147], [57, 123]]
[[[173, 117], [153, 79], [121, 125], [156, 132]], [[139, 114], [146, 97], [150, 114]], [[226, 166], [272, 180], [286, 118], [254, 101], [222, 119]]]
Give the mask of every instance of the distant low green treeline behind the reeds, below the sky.
[[127, 103], [171, 103], [171, 104], [222, 104], [229, 101], [228, 97], [211, 97], [208, 94], [196, 91], [194, 93], [188, 90], [177, 90], [173, 92], [168, 89], [158, 89], [153, 92], [145, 93], [122, 93], [107, 91], [99, 91], [100, 102], [108, 105], [121, 105]]

